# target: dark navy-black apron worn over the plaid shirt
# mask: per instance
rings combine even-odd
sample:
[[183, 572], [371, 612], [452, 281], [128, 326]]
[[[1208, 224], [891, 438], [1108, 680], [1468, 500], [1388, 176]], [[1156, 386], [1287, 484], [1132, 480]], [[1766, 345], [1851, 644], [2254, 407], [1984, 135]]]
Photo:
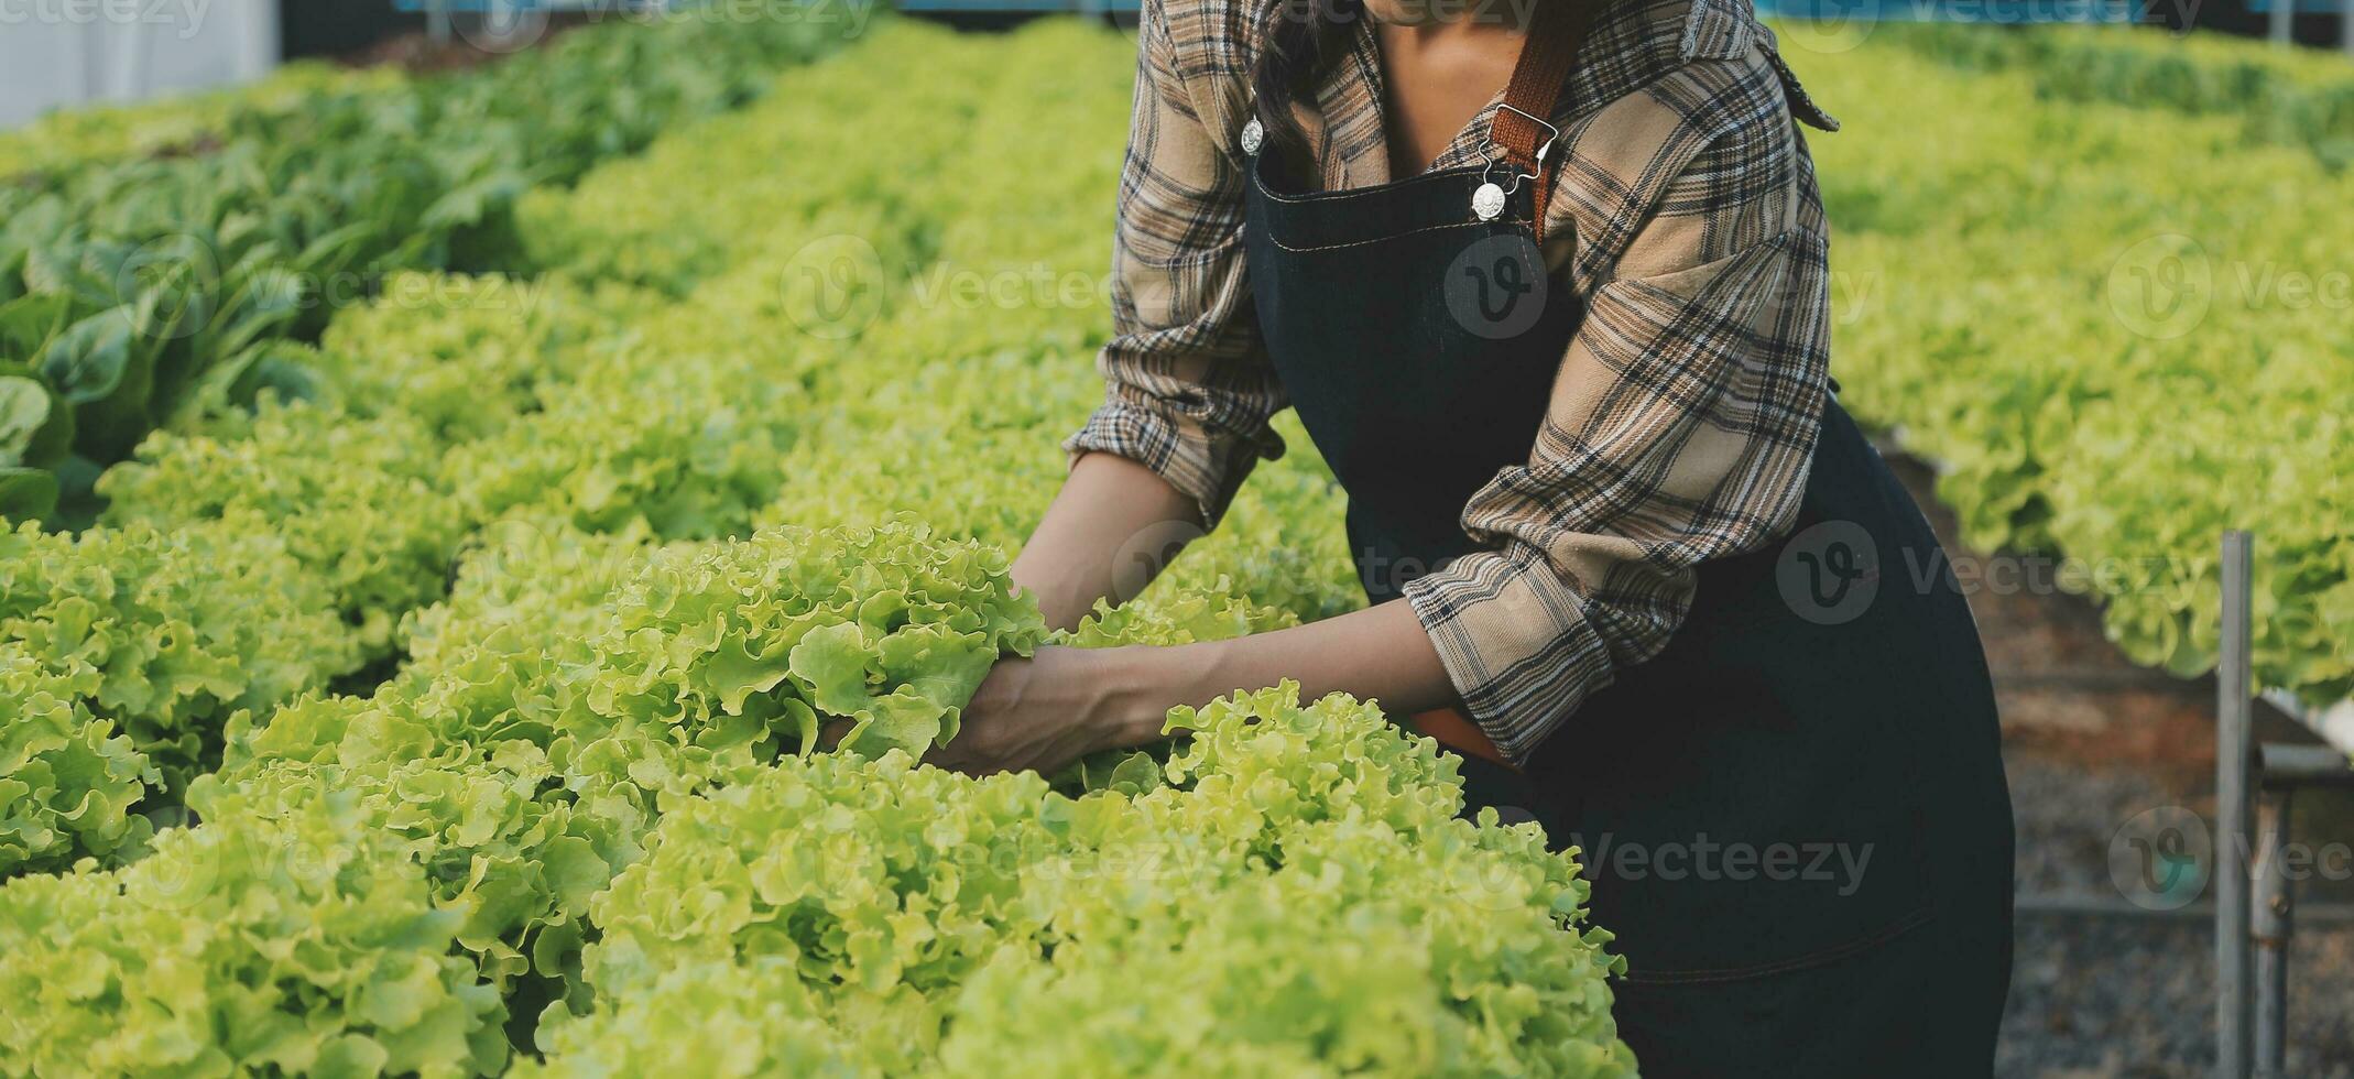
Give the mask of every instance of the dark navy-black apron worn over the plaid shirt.
[[[1474, 551], [1580, 323], [1530, 184], [1478, 167], [1316, 191], [1252, 158], [1248, 271], [1285, 393], [1349, 492], [1375, 603]], [[1582, 848], [1653, 1077], [1989, 1074], [2010, 971], [2010, 801], [1968, 605], [1838, 403], [1784, 542], [1711, 561], [1685, 624], [1476, 806]]]

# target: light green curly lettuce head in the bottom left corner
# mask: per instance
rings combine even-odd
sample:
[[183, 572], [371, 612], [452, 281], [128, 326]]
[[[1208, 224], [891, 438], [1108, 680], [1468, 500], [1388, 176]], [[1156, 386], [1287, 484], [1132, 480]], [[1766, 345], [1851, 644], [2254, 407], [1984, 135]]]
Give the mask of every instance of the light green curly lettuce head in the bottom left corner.
[[464, 924], [332, 801], [172, 829], [127, 869], [0, 888], [0, 1070], [492, 1072], [504, 1006], [452, 954]]

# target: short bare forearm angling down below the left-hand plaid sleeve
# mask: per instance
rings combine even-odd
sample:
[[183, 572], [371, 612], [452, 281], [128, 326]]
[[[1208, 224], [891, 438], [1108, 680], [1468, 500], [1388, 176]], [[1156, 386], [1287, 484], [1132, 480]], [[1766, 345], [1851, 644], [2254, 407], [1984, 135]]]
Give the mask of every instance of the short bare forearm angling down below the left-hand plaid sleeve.
[[1193, 499], [1128, 457], [1090, 452], [1022, 547], [1012, 580], [1038, 598], [1050, 627], [1071, 629], [1095, 601], [1128, 603], [1144, 591], [1196, 535]]

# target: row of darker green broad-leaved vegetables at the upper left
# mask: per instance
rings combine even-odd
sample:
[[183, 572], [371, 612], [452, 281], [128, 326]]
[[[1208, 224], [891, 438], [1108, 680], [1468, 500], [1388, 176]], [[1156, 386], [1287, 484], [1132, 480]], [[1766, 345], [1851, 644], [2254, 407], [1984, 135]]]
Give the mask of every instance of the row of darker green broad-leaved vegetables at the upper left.
[[[80, 158], [0, 186], [0, 511], [85, 521], [89, 481], [191, 386], [400, 269], [504, 269], [513, 200], [732, 108], [836, 28], [798, 7], [596, 26], [471, 73], [257, 97], [198, 153]], [[64, 125], [56, 125], [64, 127]]]

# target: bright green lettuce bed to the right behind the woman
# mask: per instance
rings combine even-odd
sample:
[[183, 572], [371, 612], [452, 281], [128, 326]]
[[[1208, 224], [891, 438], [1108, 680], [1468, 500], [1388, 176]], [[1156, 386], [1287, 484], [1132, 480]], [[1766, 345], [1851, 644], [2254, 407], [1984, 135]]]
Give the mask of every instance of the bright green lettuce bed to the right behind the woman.
[[2250, 528], [2257, 678], [2354, 693], [2354, 174], [1878, 33], [1794, 57], [1846, 120], [1815, 153], [1848, 408], [1944, 464], [1975, 547], [2060, 558], [1975, 587], [2086, 591], [2189, 676], [2215, 664], [2220, 535]]

